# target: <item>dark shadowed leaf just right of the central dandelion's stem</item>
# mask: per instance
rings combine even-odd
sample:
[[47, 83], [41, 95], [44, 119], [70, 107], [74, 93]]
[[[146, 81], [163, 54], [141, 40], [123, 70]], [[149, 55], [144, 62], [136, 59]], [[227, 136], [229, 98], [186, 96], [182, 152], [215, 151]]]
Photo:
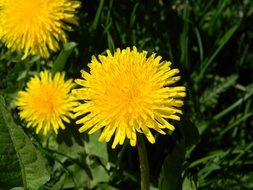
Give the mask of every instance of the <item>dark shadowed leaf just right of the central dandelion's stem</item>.
[[159, 178], [160, 190], [182, 189], [182, 171], [185, 160], [185, 150], [182, 144], [177, 144], [173, 151], [168, 154], [162, 166]]

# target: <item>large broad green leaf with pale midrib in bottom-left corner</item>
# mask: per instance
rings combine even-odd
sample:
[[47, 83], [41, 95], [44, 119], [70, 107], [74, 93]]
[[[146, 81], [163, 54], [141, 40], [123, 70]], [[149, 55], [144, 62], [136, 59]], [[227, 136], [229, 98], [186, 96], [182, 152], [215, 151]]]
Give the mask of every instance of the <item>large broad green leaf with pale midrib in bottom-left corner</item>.
[[49, 180], [46, 161], [13, 121], [0, 96], [0, 184], [3, 189], [38, 189]]

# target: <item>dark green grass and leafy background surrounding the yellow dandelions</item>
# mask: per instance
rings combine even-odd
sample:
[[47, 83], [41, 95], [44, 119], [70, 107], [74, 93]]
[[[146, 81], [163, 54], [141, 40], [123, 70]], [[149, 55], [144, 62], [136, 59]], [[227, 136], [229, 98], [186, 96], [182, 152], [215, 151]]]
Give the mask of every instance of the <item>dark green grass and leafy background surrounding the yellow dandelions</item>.
[[[79, 77], [92, 55], [136, 46], [171, 60], [187, 87], [176, 130], [157, 134], [154, 145], [147, 143], [151, 189], [253, 189], [253, 1], [83, 0], [78, 16], [70, 42], [49, 60], [21, 60], [20, 53], [0, 44], [1, 113], [11, 113], [0, 115], [2, 128], [12, 117], [17, 126], [11, 126], [22, 127], [17, 133], [29, 140], [28, 149], [44, 158], [37, 165], [47, 168], [38, 169], [43, 170], [41, 181], [29, 186], [28, 180], [26, 187], [140, 188], [137, 150], [128, 142], [112, 150], [110, 143], [97, 142], [99, 134], [80, 134], [74, 121], [58, 136], [37, 136], [19, 120], [14, 104], [17, 92], [41, 70]], [[1, 188], [25, 186], [24, 179], [6, 176], [4, 165]], [[33, 181], [36, 175], [30, 177]]]

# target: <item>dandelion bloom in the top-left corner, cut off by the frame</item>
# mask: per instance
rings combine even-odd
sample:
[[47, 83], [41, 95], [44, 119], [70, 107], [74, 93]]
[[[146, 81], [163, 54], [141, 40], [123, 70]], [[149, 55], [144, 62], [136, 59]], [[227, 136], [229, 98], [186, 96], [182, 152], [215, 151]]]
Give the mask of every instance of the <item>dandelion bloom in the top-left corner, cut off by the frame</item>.
[[74, 0], [0, 0], [0, 40], [12, 51], [48, 58], [66, 42], [65, 30], [76, 24]]

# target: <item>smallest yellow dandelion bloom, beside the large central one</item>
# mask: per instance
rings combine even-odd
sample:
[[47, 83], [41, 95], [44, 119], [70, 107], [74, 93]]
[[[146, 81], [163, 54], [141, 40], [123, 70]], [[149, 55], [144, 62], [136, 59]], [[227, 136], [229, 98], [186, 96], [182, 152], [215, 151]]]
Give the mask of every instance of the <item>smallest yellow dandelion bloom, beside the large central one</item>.
[[56, 73], [52, 77], [48, 71], [34, 76], [25, 91], [18, 92], [16, 105], [20, 118], [27, 122], [27, 127], [36, 128], [38, 134], [43, 130], [46, 135], [53, 129], [64, 129], [63, 121], [69, 123], [74, 118], [71, 110], [76, 103], [70, 91], [74, 85], [72, 80], [64, 81], [64, 73]]

